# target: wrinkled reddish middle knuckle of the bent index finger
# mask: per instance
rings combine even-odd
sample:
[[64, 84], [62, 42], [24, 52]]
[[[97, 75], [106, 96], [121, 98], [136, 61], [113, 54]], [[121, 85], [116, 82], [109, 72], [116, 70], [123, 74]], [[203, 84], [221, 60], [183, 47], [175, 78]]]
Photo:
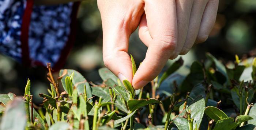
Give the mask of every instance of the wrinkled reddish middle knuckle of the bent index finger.
[[177, 42], [176, 42], [176, 37], [175, 36], [162, 35], [157, 40], [162, 43], [161, 46], [162, 46], [163, 50], [169, 50], [169, 51], [170, 50], [175, 50], [175, 48], [177, 46]]

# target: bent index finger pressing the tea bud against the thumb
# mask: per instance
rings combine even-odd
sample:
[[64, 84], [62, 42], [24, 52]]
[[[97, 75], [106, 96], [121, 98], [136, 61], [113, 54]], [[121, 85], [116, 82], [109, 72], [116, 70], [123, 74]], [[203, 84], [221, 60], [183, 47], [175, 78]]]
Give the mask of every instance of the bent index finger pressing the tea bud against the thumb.
[[132, 84], [135, 89], [144, 87], [161, 72], [177, 46], [175, 1], [146, 0], [145, 14], [152, 40], [148, 43], [146, 58], [133, 76]]

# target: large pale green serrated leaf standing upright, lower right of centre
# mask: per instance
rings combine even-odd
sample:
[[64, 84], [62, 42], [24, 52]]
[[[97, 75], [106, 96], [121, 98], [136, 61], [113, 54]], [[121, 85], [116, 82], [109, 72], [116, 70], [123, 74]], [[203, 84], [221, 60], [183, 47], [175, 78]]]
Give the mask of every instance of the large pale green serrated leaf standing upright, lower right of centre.
[[192, 104], [188, 106], [187, 109], [183, 110], [181, 114], [179, 114], [178, 116], [183, 117], [188, 110], [191, 110], [191, 118], [194, 118], [193, 129], [195, 129], [196, 124], [197, 126], [199, 126], [200, 123], [202, 122], [202, 118], [204, 115], [204, 108], [205, 108], [205, 102], [203, 97], [201, 96], [200, 98], [196, 98], [192, 102]]

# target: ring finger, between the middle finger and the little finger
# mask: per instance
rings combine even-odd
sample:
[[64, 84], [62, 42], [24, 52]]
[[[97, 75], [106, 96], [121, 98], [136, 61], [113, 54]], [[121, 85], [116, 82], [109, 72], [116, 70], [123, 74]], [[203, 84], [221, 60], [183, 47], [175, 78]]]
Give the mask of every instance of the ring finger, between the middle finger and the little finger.
[[189, 19], [188, 34], [181, 55], [185, 55], [196, 41], [201, 19], [208, 0], [194, 0]]

